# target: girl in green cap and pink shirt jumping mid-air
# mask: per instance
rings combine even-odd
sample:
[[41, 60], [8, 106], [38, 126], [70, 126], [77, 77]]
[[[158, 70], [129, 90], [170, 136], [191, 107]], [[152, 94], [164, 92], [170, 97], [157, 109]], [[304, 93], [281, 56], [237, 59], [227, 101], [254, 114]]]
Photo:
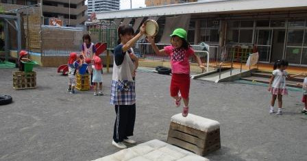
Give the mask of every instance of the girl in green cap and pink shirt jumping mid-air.
[[[205, 67], [201, 64], [200, 58], [195, 55], [194, 50], [190, 47], [187, 41], [186, 30], [178, 28], [171, 34], [171, 46], [164, 47], [159, 50], [155, 44], [154, 38], [149, 37], [147, 40], [151, 43], [153, 50], [157, 54], [169, 55], [171, 58], [171, 97], [175, 99], [175, 105], [180, 106], [180, 101], [183, 99], [184, 108], [182, 116], [188, 116], [188, 93], [190, 90], [190, 62], [189, 58], [193, 56], [199, 68], [203, 71]], [[180, 92], [180, 95], [178, 93]]]

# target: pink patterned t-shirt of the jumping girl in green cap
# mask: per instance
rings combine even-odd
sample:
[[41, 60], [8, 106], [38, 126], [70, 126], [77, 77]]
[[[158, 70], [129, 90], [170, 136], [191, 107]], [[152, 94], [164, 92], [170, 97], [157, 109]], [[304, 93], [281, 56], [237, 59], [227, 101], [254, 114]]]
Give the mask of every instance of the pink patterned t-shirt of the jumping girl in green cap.
[[190, 62], [188, 58], [193, 55], [194, 50], [189, 47], [175, 49], [173, 46], [164, 47], [165, 53], [171, 58], [171, 71], [175, 74], [190, 74]]

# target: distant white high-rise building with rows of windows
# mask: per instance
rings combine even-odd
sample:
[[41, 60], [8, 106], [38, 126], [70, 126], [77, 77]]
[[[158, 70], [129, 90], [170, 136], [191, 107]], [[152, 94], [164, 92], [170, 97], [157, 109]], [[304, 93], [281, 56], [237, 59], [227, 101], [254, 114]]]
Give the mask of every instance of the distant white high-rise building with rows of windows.
[[88, 16], [93, 12], [119, 10], [119, 0], [88, 0]]

